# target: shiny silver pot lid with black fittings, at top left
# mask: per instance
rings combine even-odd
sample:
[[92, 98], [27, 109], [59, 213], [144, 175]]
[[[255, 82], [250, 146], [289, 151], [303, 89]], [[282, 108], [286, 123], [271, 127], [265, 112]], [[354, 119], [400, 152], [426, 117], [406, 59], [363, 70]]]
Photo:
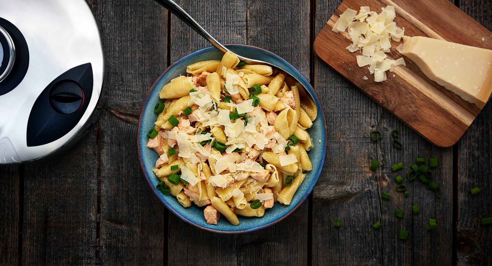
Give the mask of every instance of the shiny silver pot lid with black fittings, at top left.
[[43, 158], [78, 136], [103, 78], [85, 0], [0, 0], [0, 164]]

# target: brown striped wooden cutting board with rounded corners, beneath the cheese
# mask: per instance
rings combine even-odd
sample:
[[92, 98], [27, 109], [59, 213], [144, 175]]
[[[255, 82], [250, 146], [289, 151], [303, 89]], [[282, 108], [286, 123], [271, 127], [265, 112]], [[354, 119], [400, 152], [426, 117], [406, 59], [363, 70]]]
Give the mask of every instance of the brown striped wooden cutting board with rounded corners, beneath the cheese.
[[[404, 56], [406, 67], [396, 66], [394, 73], [386, 72], [387, 81], [374, 82], [368, 67], [357, 65], [356, 55], [362, 53], [350, 53], [345, 49], [351, 44], [346, 38], [348, 33], [332, 31], [347, 8], [359, 11], [366, 5], [378, 13], [381, 7], [393, 5], [394, 21], [398, 27], [405, 28], [407, 36], [427, 36], [492, 50], [492, 32], [447, 0], [344, 0], [314, 40], [315, 53], [345, 79], [433, 144], [452, 146], [473, 122], [480, 108], [428, 79]], [[389, 58], [402, 56], [396, 51], [402, 42], [391, 42]], [[368, 80], [363, 80], [364, 76]]]

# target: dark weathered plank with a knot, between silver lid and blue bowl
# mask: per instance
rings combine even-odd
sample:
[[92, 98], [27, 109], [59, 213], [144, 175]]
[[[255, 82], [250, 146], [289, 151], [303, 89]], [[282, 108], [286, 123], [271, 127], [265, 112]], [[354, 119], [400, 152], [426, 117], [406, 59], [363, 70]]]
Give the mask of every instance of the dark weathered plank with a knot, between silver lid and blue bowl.
[[167, 210], [142, 174], [138, 115], [166, 67], [167, 11], [154, 1], [92, 1], [106, 44], [106, 98], [99, 118], [100, 264], [163, 265]]

